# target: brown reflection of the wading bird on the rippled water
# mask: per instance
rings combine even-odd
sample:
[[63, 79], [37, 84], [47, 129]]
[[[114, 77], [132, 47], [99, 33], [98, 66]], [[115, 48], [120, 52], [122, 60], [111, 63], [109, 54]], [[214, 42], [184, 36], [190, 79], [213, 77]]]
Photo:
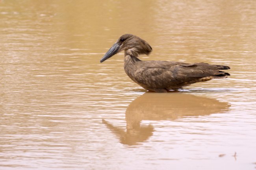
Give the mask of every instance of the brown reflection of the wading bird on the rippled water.
[[151, 124], [141, 125], [142, 120], [159, 121], [188, 116], [204, 116], [227, 112], [229, 107], [228, 102], [220, 102], [216, 99], [181, 92], [146, 92], [132, 101], [126, 109], [126, 131], [113, 126], [104, 119], [102, 122], [120, 138], [120, 143], [136, 145], [147, 141], [154, 132]]

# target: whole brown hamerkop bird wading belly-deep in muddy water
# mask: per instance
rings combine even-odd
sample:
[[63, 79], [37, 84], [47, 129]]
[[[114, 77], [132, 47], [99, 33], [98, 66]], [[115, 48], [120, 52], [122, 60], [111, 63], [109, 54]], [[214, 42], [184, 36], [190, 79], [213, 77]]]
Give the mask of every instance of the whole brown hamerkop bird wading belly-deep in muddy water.
[[142, 61], [138, 56], [141, 54], [149, 55], [152, 48], [145, 40], [132, 34], [122, 35], [101, 58], [100, 62], [104, 62], [122, 50], [124, 50], [126, 74], [149, 91], [179, 90], [196, 82], [223, 79], [230, 75], [220, 71], [230, 69], [228, 66], [211, 65], [203, 62], [187, 64], [174, 61]]

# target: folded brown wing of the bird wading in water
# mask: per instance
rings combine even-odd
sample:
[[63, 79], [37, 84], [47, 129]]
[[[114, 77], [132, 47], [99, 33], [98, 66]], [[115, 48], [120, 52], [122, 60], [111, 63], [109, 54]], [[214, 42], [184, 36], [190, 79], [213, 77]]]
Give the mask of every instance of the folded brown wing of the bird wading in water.
[[219, 69], [225, 69], [225, 66], [210, 65], [207, 63], [187, 64], [165, 61], [143, 62], [140, 65], [140, 68], [135, 73], [137, 81], [155, 88], [165, 88], [194, 79], [220, 75], [224, 72], [219, 71]]

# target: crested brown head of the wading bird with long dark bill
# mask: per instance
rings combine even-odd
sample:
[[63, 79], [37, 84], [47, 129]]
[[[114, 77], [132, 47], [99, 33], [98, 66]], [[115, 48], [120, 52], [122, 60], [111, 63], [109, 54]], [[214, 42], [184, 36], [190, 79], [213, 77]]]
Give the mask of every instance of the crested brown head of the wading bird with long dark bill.
[[100, 62], [104, 62], [122, 50], [124, 50], [125, 55], [138, 57], [140, 54], [149, 55], [152, 48], [145, 40], [132, 34], [124, 34], [118, 38], [117, 42], [101, 58]]

